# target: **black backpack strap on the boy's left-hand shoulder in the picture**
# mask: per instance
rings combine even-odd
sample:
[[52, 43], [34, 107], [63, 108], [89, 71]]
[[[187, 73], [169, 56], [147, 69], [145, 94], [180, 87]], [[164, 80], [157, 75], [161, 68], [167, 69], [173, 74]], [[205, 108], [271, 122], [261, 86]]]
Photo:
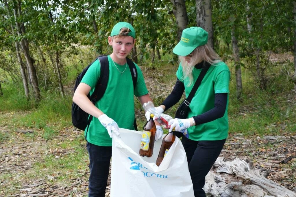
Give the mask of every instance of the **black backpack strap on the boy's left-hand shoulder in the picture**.
[[[108, 79], [109, 79], [109, 62], [108, 62], [108, 57], [107, 56], [99, 56], [97, 59], [100, 61], [100, 77], [99, 80], [96, 84], [96, 87], [94, 89], [94, 92], [91, 94], [90, 100], [91, 102], [95, 105], [96, 101], [100, 100], [106, 89], [107, 89], [107, 84], [108, 84]], [[87, 121], [87, 130], [85, 134], [85, 139], [87, 136], [87, 131], [89, 130], [89, 125], [91, 123], [93, 116], [89, 115], [89, 119]]]

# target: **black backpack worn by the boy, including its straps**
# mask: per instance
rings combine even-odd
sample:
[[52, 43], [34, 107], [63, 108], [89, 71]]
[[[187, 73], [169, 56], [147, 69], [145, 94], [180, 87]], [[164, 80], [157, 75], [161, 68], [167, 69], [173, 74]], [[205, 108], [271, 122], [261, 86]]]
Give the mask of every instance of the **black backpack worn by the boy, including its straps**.
[[[99, 61], [100, 61], [101, 74], [100, 74], [98, 83], [96, 84], [94, 92], [91, 95], [90, 94], [87, 95], [89, 100], [91, 100], [91, 102], [94, 105], [95, 105], [96, 101], [100, 100], [103, 97], [103, 95], [107, 89], [107, 84], [108, 84], [108, 79], [109, 79], [108, 57], [107, 56], [99, 56], [94, 61], [96, 61], [97, 59], [99, 59]], [[91, 64], [93, 64], [94, 61]], [[126, 58], [126, 62], [127, 62], [128, 67], [131, 71], [131, 75], [132, 75], [132, 79], [133, 79], [133, 88], [135, 89], [136, 83], [137, 83], [137, 77], [138, 77], [137, 69], [136, 69], [136, 66], [133, 63], [133, 61], [131, 61], [129, 58]], [[86, 71], [91, 66], [91, 64], [89, 64], [85, 69], [83, 69], [83, 71], [77, 76], [77, 79], [75, 82], [75, 87], [74, 87], [74, 92], [75, 92], [76, 88], [78, 87], [79, 83], [81, 82]], [[76, 128], [79, 128], [80, 130], [84, 131], [86, 126], [89, 126], [89, 124], [91, 123], [93, 116], [89, 115], [88, 113], [83, 111], [78, 105], [76, 105], [75, 102], [72, 103], [71, 113], [72, 113], [72, 123], [73, 123], [73, 126], [75, 126]], [[136, 124], [136, 116], [135, 116], [135, 120], [134, 120], [134, 127], [136, 130], [138, 130], [137, 124]]]

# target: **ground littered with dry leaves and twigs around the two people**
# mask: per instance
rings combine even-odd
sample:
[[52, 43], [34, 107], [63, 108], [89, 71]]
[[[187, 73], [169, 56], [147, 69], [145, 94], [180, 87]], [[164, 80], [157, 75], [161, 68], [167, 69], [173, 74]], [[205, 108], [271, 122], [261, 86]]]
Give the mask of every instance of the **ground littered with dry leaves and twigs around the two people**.
[[[28, 140], [28, 129], [9, 131], [1, 128], [5, 135], [12, 138], [0, 143], [0, 196], [87, 196], [88, 192], [88, 157], [81, 158], [82, 166], [78, 169], [51, 172], [44, 175], [42, 170], [32, 175], [36, 164], [42, 165], [46, 155], [59, 159], [67, 155], [75, 155], [73, 147], [56, 147], [65, 140], [75, 140], [81, 136], [81, 131], [73, 127], [65, 128], [56, 138], [45, 141], [39, 136]], [[13, 132], [13, 133], [12, 133]], [[85, 141], [81, 140], [81, 147]], [[242, 134], [230, 135], [221, 157], [226, 159], [249, 159], [254, 168], [268, 170], [268, 179], [296, 192], [296, 136], [295, 133], [284, 133], [282, 136], [252, 136], [245, 138]], [[54, 161], [53, 161], [54, 162]], [[28, 174], [28, 176], [26, 176]], [[67, 179], [65, 179], [65, 177]], [[110, 196], [110, 177], [106, 190]]]

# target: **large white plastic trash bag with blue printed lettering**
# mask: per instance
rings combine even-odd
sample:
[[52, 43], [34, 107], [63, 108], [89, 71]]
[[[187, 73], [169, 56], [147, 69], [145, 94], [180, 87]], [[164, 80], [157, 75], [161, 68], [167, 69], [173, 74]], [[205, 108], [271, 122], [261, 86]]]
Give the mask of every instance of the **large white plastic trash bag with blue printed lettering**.
[[158, 167], [155, 161], [162, 140], [155, 141], [152, 157], [141, 157], [141, 131], [120, 128], [119, 132], [121, 138], [113, 135], [112, 139], [111, 197], [194, 196], [186, 153], [178, 138]]

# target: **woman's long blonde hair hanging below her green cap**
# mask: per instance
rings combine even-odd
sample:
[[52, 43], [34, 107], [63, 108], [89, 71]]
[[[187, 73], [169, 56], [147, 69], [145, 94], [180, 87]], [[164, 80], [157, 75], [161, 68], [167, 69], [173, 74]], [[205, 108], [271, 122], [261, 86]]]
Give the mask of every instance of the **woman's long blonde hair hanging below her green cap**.
[[215, 66], [218, 62], [221, 61], [218, 54], [207, 44], [195, 48], [191, 54], [192, 54], [192, 57], [189, 64], [185, 61], [185, 56], [179, 56], [179, 60], [181, 62], [182, 70], [183, 70], [183, 77], [180, 80], [183, 81], [188, 77], [189, 84], [187, 85], [187, 87], [191, 86], [193, 83], [192, 71], [196, 64], [202, 61], [206, 61], [209, 64]]

